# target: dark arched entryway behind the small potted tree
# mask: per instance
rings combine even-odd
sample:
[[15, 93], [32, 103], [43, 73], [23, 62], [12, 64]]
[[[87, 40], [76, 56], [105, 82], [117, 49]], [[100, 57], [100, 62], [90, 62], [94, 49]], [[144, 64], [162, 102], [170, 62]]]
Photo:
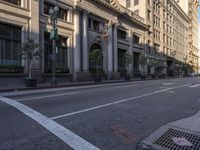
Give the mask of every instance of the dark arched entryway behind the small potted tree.
[[[101, 50], [102, 51], [102, 48], [99, 44], [97, 43], [94, 43], [90, 46], [90, 51], [89, 53], [93, 52], [95, 49], [98, 49], [98, 50]], [[103, 53], [103, 51], [102, 51]], [[104, 70], [103, 70], [103, 58], [101, 60], [101, 63], [97, 66], [98, 67], [98, 71], [100, 74], [104, 74]], [[89, 71], [91, 73], [96, 73], [96, 64], [94, 63], [94, 61], [91, 60], [91, 58], [89, 58]]]

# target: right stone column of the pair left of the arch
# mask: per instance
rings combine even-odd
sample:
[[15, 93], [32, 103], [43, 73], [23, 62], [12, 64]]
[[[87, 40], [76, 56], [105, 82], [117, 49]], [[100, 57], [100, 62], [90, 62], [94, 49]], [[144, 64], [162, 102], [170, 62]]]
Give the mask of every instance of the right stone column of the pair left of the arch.
[[86, 11], [83, 12], [83, 36], [82, 36], [82, 43], [83, 43], [83, 71], [89, 71], [89, 53], [88, 53], [88, 14]]

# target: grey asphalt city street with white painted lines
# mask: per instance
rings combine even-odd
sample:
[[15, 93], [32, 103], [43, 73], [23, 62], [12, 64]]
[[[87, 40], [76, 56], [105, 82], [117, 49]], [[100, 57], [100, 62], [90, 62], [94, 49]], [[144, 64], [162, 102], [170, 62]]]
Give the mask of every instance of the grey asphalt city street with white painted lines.
[[200, 110], [200, 78], [0, 93], [0, 150], [134, 150]]

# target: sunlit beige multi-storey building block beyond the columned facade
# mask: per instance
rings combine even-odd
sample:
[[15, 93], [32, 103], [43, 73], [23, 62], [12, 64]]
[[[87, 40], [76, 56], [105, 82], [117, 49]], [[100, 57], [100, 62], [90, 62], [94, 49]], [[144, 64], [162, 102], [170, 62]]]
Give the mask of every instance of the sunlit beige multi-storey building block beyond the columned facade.
[[[180, 74], [185, 61], [198, 68], [196, 0], [119, 0], [119, 2], [145, 19], [145, 23], [150, 27], [149, 34], [145, 36], [151, 47], [149, 54], [166, 60], [168, 75], [171, 74], [171, 69], [178, 70], [177, 73]], [[175, 66], [174, 60], [176, 60]]]

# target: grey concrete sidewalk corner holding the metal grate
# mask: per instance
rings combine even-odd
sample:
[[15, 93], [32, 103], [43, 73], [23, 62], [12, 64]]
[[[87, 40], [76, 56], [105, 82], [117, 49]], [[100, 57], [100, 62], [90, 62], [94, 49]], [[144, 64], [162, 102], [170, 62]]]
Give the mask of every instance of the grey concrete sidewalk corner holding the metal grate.
[[[179, 141], [175, 143], [173, 138], [178, 138]], [[186, 145], [188, 143], [190, 145]], [[160, 127], [139, 143], [137, 150], [199, 150], [199, 143], [200, 111], [191, 117], [170, 122]]]

